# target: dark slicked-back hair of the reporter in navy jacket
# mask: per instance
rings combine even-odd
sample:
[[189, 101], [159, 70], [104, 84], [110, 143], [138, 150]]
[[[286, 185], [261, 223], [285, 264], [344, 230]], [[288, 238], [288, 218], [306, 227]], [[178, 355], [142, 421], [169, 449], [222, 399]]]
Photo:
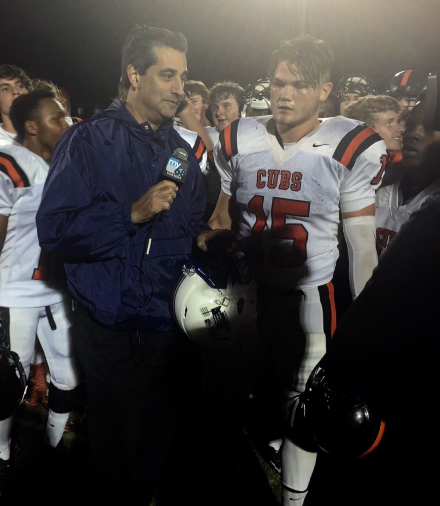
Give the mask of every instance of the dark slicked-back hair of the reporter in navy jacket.
[[188, 43], [181, 32], [173, 32], [166, 28], [154, 26], [136, 26], [124, 41], [122, 46], [121, 79], [119, 95], [126, 95], [130, 88], [127, 76], [128, 65], [134, 65], [141, 75], [149, 67], [157, 63], [155, 48], [172, 48], [181, 53], [188, 51]]

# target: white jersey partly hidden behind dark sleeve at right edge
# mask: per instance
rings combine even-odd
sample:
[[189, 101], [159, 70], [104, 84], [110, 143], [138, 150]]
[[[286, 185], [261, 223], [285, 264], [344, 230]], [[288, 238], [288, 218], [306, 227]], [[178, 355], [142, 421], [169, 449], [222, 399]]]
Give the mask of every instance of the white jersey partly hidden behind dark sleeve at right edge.
[[389, 241], [422, 206], [423, 202], [440, 191], [440, 180], [435, 181], [419, 194], [402, 204], [400, 183], [379, 188], [376, 193], [376, 245], [379, 254]]

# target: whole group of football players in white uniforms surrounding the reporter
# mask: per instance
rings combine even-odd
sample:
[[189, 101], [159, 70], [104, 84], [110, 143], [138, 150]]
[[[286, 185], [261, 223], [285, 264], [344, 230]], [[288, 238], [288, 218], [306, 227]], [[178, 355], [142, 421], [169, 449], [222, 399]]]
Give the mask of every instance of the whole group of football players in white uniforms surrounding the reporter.
[[[246, 89], [187, 80], [174, 129], [191, 146], [205, 181], [212, 231], [199, 235], [200, 248], [207, 250], [219, 230], [233, 229], [250, 258], [272, 382], [260, 395], [272, 396], [268, 403], [275, 405], [264, 456], [282, 473], [283, 504], [300, 505], [317, 445], [296, 427], [296, 412], [337, 327], [334, 301], [348, 283], [358, 297], [377, 255], [440, 190], [436, 164], [423, 158], [440, 131], [424, 126], [426, 79], [415, 70], [397, 73], [383, 94], [363, 75], [343, 77], [333, 91], [333, 55], [323, 41], [298, 37], [274, 55], [269, 78]], [[49, 272], [35, 216], [55, 146], [81, 120], [70, 116], [65, 90], [9, 64], [0, 65], [0, 113], [3, 339], [21, 360], [21, 383], [30, 380], [27, 402], [48, 402], [45, 451], [62, 451], [79, 382], [71, 299], [62, 265], [52, 259]], [[348, 260], [341, 255], [334, 293], [338, 248]], [[0, 492], [13, 468], [10, 397], [1, 409]]]

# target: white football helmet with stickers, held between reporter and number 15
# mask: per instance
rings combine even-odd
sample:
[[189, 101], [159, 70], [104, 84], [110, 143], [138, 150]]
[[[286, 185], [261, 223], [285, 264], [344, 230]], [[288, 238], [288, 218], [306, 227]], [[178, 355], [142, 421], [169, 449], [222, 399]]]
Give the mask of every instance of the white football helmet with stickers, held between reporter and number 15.
[[[236, 257], [238, 258], [238, 257]], [[174, 318], [203, 346], [229, 345], [256, 318], [256, 284], [242, 259], [230, 265], [186, 264], [171, 299]]]

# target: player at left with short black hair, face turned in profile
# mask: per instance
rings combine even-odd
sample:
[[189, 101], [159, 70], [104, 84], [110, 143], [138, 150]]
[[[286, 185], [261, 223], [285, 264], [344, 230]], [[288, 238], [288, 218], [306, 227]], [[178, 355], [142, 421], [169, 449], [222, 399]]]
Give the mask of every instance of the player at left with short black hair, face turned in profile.
[[[47, 90], [17, 98], [10, 115], [23, 146], [0, 148], [1, 315], [11, 350], [27, 376], [38, 335], [51, 373], [47, 443], [61, 448], [77, 378], [70, 357], [67, 291], [39, 247], [35, 215], [52, 151], [68, 123]], [[12, 416], [0, 421], [0, 493], [10, 478], [11, 426]]]

